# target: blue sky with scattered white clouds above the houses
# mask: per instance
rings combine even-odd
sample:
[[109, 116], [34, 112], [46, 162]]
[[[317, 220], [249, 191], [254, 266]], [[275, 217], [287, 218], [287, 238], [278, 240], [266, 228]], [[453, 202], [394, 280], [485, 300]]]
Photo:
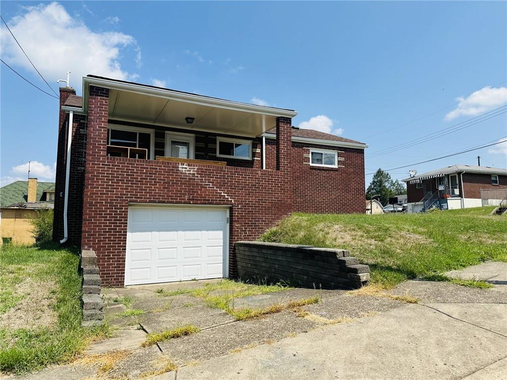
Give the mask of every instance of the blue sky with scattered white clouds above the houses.
[[[293, 108], [299, 111], [294, 125], [368, 143], [366, 173], [507, 136], [503, 113], [379, 155], [507, 103], [505, 2], [1, 5], [3, 18], [55, 91], [56, 80], [71, 70], [78, 93], [78, 77], [93, 73]], [[2, 59], [50, 92], [4, 24]], [[3, 64], [1, 75], [2, 182], [26, 178], [28, 161], [37, 161], [33, 175], [52, 180], [58, 101]], [[507, 167], [507, 144], [501, 144], [391, 175], [475, 165], [477, 155], [482, 165]]]

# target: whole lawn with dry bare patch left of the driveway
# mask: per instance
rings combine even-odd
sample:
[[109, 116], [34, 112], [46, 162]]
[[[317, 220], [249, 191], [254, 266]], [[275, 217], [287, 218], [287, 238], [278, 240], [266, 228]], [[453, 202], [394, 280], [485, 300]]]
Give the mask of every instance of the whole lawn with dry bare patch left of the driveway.
[[0, 248], [0, 371], [23, 373], [70, 360], [108, 334], [81, 327], [79, 256], [58, 246]]

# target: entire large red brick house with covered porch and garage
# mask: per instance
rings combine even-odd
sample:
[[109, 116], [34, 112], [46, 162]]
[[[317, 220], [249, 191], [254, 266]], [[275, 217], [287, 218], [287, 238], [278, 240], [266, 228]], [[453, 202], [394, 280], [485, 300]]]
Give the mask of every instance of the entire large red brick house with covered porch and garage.
[[61, 88], [53, 238], [94, 250], [106, 285], [236, 277], [234, 243], [291, 212], [364, 213], [367, 145], [296, 115], [93, 75], [83, 97]]

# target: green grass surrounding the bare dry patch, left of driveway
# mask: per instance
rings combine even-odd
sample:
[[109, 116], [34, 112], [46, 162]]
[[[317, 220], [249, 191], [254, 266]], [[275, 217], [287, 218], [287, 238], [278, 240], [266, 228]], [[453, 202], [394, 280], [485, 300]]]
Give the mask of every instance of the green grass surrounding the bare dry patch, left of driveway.
[[[81, 327], [81, 277], [77, 252], [57, 245], [26, 247], [9, 245], [0, 250], [0, 287], [15, 294], [16, 285], [29, 278], [54, 281], [53, 310], [56, 325], [37, 328], [0, 328], [0, 371], [24, 373], [70, 360], [88, 341], [110, 335], [110, 327]], [[10, 305], [13, 301], [7, 295]]]

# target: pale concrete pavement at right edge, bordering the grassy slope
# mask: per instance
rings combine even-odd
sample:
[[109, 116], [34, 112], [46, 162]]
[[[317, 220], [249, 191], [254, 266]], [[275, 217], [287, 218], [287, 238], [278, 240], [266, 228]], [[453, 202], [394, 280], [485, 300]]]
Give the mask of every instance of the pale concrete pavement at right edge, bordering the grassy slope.
[[484, 280], [492, 284], [495, 290], [507, 292], [507, 262], [486, 261], [444, 274], [452, 278]]

